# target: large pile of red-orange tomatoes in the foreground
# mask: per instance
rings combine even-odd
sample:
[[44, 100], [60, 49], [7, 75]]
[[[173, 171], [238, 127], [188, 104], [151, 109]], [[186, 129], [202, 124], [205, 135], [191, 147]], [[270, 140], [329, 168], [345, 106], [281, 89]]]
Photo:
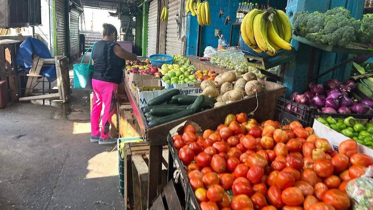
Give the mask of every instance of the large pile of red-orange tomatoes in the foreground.
[[352, 139], [334, 151], [297, 121], [258, 124], [244, 113], [172, 139], [201, 210], [351, 209], [346, 185], [373, 164]]

